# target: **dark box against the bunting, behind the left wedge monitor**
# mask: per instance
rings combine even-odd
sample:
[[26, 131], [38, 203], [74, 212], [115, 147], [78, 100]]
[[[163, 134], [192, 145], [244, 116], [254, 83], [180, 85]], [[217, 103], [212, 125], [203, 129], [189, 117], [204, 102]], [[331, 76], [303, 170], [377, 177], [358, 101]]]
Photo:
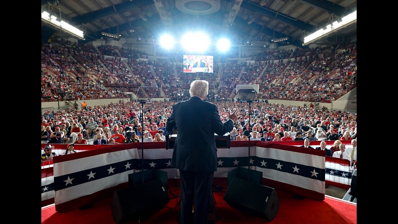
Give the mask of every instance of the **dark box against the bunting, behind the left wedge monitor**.
[[[144, 170], [144, 183], [161, 179], [164, 187], [167, 189], [167, 172], [160, 169], [147, 169]], [[129, 174], [129, 186], [142, 184], [142, 171]]]

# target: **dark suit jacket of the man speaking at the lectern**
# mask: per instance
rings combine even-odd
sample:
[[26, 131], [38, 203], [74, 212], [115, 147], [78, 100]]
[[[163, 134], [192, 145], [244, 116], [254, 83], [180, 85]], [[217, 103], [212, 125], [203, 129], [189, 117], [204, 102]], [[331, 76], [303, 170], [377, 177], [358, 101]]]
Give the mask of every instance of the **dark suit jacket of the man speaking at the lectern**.
[[173, 105], [166, 130], [177, 128], [171, 165], [187, 171], [217, 171], [217, 149], [214, 134], [224, 135], [234, 122], [222, 123], [215, 104], [192, 96]]

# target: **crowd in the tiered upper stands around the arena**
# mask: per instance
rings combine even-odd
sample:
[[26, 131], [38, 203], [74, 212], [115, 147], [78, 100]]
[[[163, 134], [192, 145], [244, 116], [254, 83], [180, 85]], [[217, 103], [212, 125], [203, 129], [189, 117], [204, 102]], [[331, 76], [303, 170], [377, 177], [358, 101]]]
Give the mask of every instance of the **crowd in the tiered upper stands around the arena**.
[[[136, 92], [142, 85], [159, 87], [155, 95], [158, 98], [177, 100], [181, 90], [201, 79], [209, 82], [218, 101], [236, 96], [236, 84], [259, 84], [258, 96], [263, 99], [332, 102], [356, 84], [355, 44], [340, 46], [332, 52], [317, 47], [253, 53], [253, 64], [217, 66], [215, 61], [214, 73], [183, 73], [179, 63], [138, 60], [137, 54], [145, 56], [135, 49], [111, 45], [94, 47], [67, 40], [62, 47], [43, 43], [42, 100], [125, 98], [124, 92]], [[161, 80], [156, 81], [155, 76]], [[143, 93], [139, 97], [153, 94]]]

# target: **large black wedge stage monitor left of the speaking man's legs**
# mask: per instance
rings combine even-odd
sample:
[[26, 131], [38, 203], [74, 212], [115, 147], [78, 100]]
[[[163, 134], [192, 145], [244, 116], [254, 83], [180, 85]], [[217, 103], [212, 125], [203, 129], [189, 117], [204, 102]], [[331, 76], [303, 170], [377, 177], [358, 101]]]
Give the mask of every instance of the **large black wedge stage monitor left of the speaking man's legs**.
[[122, 223], [164, 208], [170, 198], [160, 179], [115, 191], [111, 210], [113, 220]]

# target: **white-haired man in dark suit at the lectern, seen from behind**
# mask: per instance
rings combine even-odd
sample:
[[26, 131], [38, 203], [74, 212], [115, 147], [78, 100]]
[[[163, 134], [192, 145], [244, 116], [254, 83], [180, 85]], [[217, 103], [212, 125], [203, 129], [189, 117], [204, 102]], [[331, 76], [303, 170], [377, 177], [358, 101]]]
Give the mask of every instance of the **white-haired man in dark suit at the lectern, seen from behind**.
[[191, 98], [174, 104], [167, 120], [168, 133], [174, 128], [178, 130], [171, 165], [179, 169], [181, 177], [181, 224], [207, 224], [213, 175], [217, 171], [214, 134], [230, 132], [238, 119], [239, 110], [234, 110], [222, 123], [217, 106], [203, 101], [208, 89], [207, 81], [193, 81], [189, 89]]

